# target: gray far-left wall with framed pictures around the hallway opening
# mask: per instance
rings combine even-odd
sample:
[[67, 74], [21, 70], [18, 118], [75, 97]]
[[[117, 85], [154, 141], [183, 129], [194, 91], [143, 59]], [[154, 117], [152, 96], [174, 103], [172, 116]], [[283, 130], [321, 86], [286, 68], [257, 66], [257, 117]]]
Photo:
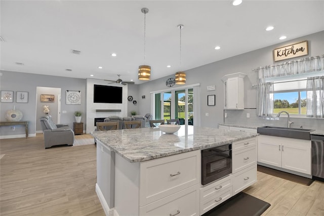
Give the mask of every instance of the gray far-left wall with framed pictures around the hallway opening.
[[[36, 128], [36, 87], [61, 88], [61, 123], [73, 127], [74, 111], [86, 113], [86, 79], [68, 78], [61, 76], [48, 76], [31, 73], [1, 71], [1, 90], [14, 91], [14, 103], [0, 103], [0, 120], [5, 121], [6, 111], [13, 108], [23, 113], [22, 120], [29, 121], [29, 134], [35, 134]], [[66, 105], [66, 90], [81, 91], [81, 105]], [[16, 103], [16, 91], [28, 92], [28, 103]], [[39, 96], [40, 97], [40, 96]], [[66, 113], [62, 113], [65, 110]], [[86, 127], [86, 125], [84, 125]], [[10, 126], [2, 126], [0, 136], [24, 135], [24, 127], [16, 126], [15, 131]]]

